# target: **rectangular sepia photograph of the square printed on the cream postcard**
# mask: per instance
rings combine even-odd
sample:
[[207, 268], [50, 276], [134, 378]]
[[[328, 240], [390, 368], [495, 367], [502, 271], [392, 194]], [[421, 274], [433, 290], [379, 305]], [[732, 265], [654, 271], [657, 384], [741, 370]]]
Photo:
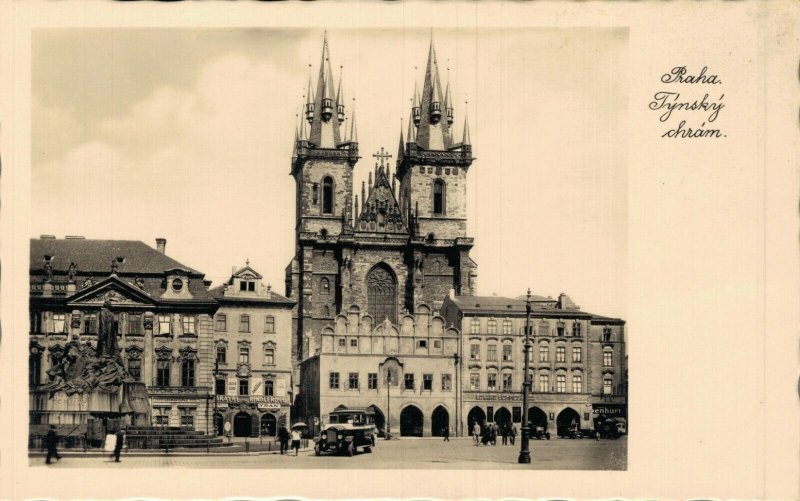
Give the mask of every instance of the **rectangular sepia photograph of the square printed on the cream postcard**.
[[624, 470], [627, 40], [37, 31], [31, 464]]

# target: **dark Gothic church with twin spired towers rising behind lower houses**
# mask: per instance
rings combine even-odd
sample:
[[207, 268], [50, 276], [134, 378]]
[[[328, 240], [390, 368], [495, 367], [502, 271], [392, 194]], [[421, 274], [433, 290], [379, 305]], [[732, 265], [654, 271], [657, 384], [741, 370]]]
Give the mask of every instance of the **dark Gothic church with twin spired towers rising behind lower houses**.
[[421, 304], [438, 308], [451, 289], [471, 295], [476, 288], [473, 239], [466, 236], [469, 129], [465, 119], [456, 143], [450, 84], [443, 93], [433, 42], [395, 172], [381, 148], [360, 197], [353, 194], [355, 110], [348, 118], [341, 75], [335, 92], [333, 80], [326, 36], [292, 153], [296, 254], [286, 268], [286, 293], [297, 302], [293, 352], [300, 360], [313, 355], [304, 340], [319, 346], [322, 327], [353, 307], [374, 324], [394, 323]]

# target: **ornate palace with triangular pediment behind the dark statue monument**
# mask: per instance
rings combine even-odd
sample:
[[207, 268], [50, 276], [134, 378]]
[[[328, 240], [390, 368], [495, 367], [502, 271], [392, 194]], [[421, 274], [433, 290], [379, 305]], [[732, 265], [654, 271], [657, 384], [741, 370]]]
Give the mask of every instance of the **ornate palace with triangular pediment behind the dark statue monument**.
[[[41, 412], [54, 360], [71, 342], [98, 343], [98, 314], [111, 304], [118, 353], [128, 373], [147, 387], [156, 426], [207, 431], [212, 388], [212, 317], [217, 303], [204, 275], [143, 242], [56, 239], [30, 247], [29, 387], [32, 430], [60, 414]], [[77, 398], [77, 397], [76, 397]], [[76, 413], [75, 425], [99, 416]], [[45, 426], [46, 427], [46, 426]]]

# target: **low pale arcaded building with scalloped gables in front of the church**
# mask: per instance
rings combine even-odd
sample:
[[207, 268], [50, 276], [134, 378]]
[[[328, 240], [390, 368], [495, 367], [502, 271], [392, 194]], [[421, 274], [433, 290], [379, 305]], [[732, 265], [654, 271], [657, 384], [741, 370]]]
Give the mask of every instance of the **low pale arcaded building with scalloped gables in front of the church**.
[[300, 418], [314, 431], [337, 408], [371, 408], [382, 432], [439, 436], [458, 412], [459, 332], [428, 305], [398, 324], [351, 306], [322, 329], [301, 364]]

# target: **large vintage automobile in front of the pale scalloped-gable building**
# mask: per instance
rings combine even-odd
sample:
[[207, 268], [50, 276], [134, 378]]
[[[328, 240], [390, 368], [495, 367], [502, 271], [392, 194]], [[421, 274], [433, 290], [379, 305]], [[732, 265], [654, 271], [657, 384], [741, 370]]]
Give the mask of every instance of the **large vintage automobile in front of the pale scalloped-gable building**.
[[359, 447], [372, 452], [377, 433], [372, 410], [338, 409], [330, 413], [330, 422], [314, 439], [314, 454], [344, 452], [352, 456]]

